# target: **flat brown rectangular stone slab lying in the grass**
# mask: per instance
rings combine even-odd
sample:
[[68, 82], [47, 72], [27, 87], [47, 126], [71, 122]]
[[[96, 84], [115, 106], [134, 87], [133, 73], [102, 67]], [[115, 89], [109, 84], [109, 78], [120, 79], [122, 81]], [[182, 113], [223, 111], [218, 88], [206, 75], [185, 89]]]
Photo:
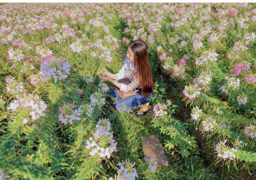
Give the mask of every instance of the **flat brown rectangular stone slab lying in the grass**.
[[163, 146], [157, 136], [142, 136], [140, 137], [140, 140], [145, 158], [153, 158], [160, 167], [168, 166]]

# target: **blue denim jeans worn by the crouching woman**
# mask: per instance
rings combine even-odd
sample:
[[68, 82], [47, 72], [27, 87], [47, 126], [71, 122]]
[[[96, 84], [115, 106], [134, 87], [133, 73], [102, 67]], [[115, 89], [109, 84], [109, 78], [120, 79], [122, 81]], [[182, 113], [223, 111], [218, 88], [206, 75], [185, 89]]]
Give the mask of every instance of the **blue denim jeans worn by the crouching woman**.
[[126, 110], [130, 110], [133, 108], [138, 108], [139, 105], [143, 105], [145, 103], [148, 103], [152, 96], [154, 94], [154, 91], [152, 91], [147, 98], [142, 96], [141, 91], [138, 91], [133, 96], [128, 96], [126, 98], [120, 98], [118, 92], [116, 90], [110, 91], [109, 95], [116, 98], [116, 101], [113, 103], [114, 109], [117, 109], [120, 105], [125, 105]]

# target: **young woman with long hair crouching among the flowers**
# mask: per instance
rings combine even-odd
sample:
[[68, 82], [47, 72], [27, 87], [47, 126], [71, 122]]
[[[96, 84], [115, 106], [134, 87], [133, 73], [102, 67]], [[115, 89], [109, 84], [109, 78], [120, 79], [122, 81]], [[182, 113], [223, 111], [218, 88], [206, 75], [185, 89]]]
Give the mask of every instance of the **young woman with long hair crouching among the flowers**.
[[[140, 40], [131, 41], [126, 53], [126, 58], [123, 67], [117, 74], [105, 72], [99, 75], [102, 81], [109, 81], [120, 91], [126, 93], [135, 91], [136, 94], [126, 98], [120, 98], [116, 90], [109, 94], [116, 98], [114, 108], [119, 105], [125, 105], [126, 110], [140, 107], [138, 115], [145, 115], [149, 110], [149, 101], [153, 95], [154, 82], [152, 72], [149, 65], [147, 52], [147, 44]], [[118, 82], [119, 79], [128, 78], [129, 84]]]

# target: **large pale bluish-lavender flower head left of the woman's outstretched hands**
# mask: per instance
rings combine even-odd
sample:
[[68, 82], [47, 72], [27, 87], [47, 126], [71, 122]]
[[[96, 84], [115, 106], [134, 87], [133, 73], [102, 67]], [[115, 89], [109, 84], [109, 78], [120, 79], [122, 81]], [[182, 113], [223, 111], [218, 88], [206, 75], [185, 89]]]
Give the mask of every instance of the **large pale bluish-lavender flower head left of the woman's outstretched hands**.
[[50, 65], [41, 64], [40, 71], [45, 79], [54, 78], [54, 83], [57, 80], [61, 80], [67, 77], [67, 74], [70, 75], [69, 63], [61, 58], [55, 58]]

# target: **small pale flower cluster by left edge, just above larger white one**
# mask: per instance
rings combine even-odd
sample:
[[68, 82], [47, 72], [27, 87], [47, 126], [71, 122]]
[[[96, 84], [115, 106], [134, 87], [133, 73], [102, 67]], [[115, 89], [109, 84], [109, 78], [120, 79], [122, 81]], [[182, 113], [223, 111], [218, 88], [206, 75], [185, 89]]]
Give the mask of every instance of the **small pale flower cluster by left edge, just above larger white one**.
[[17, 82], [11, 75], [4, 78], [6, 82], [6, 89], [12, 94], [23, 92], [23, 82]]

